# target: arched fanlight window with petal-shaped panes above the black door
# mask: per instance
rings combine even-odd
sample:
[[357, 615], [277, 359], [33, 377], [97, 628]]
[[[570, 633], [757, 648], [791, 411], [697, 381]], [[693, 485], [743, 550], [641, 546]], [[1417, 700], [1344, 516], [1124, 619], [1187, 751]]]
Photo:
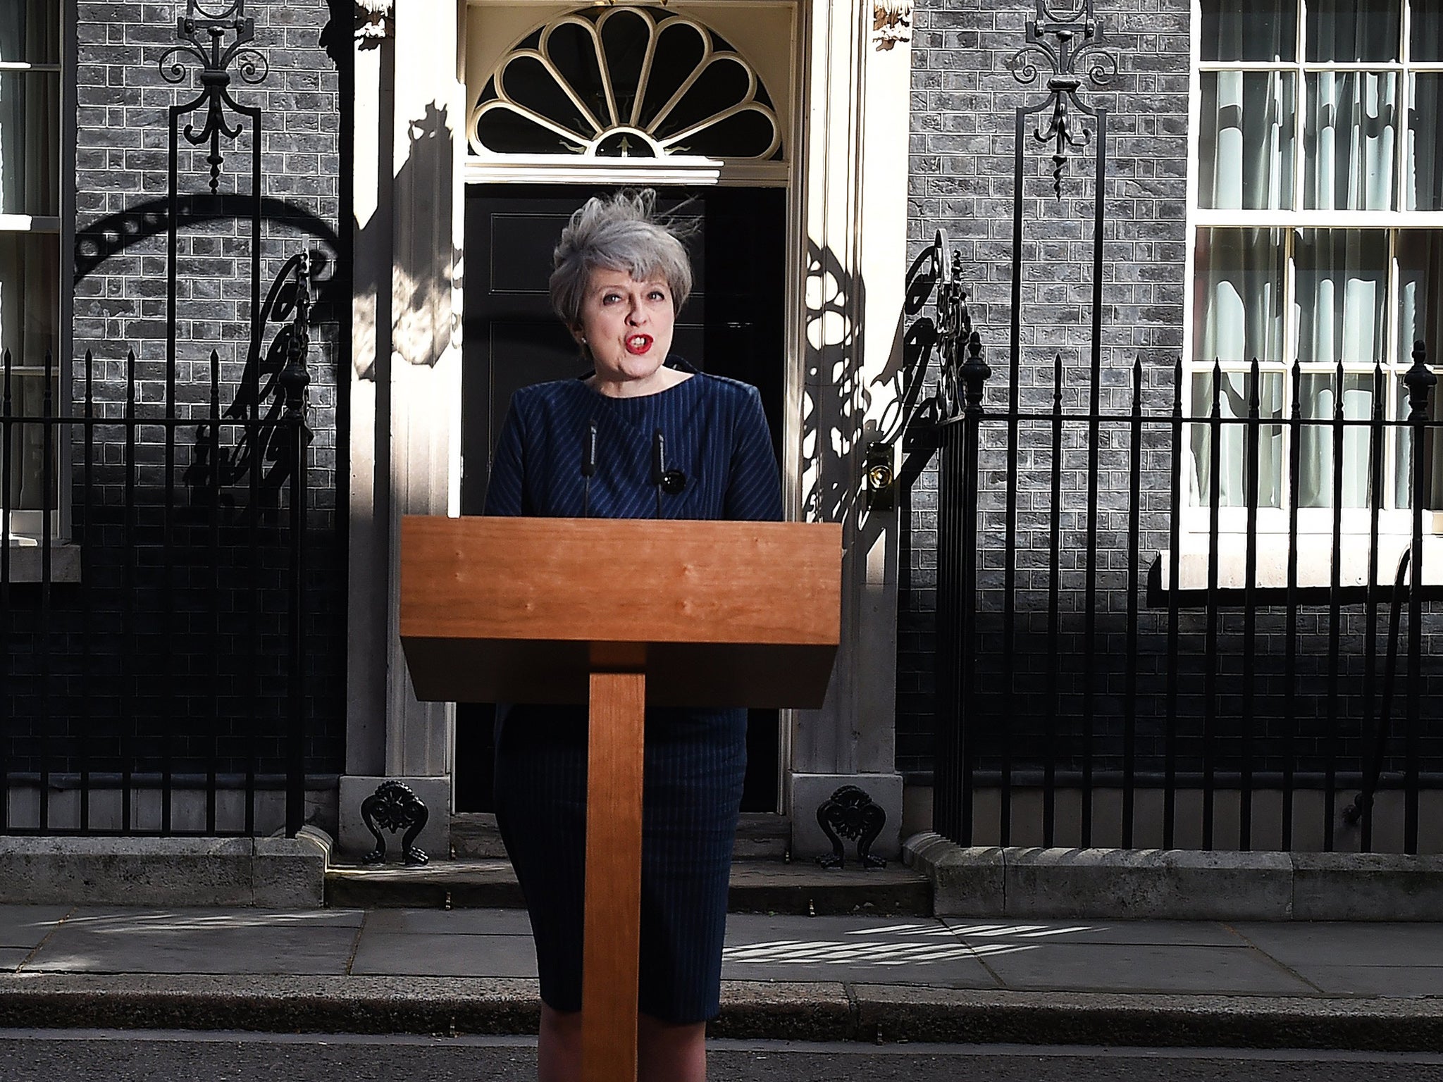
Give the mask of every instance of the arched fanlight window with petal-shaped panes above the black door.
[[496, 65], [470, 113], [492, 154], [781, 159], [756, 69], [723, 38], [661, 7], [560, 16]]

